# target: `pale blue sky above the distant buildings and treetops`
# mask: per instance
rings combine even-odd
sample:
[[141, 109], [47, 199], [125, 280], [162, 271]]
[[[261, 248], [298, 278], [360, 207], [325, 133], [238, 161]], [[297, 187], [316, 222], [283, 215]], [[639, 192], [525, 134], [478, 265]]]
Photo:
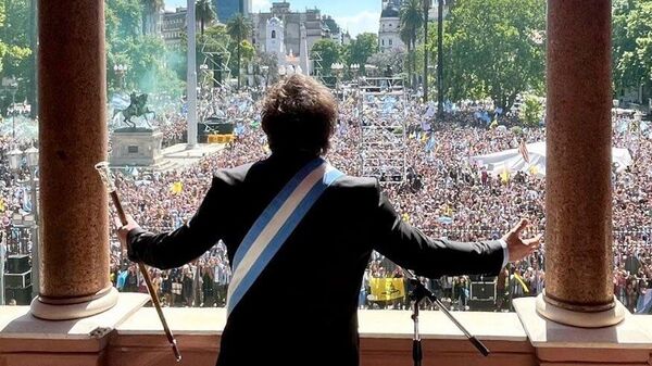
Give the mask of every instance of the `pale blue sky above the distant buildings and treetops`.
[[[277, 0], [252, 0], [254, 12], [269, 11], [272, 2]], [[322, 14], [331, 15], [344, 29], [349, 29], [351, 36], [363, 31], [378, 31], [378, 18], [380, 17], [380, 0], [289, 0], [292, 10], [304, 10], [306, 8], [318, 8]], [[165, 8], [186, 7], [187, 0], [165, 0]]]

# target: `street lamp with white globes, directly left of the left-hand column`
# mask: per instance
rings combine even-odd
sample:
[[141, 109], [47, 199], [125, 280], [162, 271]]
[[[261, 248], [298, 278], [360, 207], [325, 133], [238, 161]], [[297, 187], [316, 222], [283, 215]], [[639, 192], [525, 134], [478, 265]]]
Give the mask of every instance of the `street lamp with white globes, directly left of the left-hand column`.
[[[23, 167], [23, 156], [25, 157], [25, 165], [27, 166], [27, 169], [29, 171], [29, 179], [28, 180], [23, 180], [23, 181], [18, 181], [18, 184], [29, 184], [29, 188], [32, 191], [32, 214], [34, 216], [34, 220], [33, 224], [30, 225], [32, 227], [32, 283], [34, 283], [33, 288], [32, 288], [32, 298], [34, 299], [35, 296], [38, 295], [38, 290], [39, 290], [39, 239], [38, 239], [38, 224], [39, 224], [39, 216], [38, 216], [38, 177], [37, 175], [37, 169], [38, 169], [38, 149], [32, 147], [27, 150], [25, 150], [24, 152], [18, 150], [18, 149], [14, 149], [11, 152], [9, 152], [8, 154], [8, 159], [9, 159], [9, 167], [11, 168], [11, 171], [14, 172], [14, 174], [18, 174], [20, 169]], [[25, 220], [27, 222], [27, 220]], [[32, 220], [29, 220], [32, 222]]]

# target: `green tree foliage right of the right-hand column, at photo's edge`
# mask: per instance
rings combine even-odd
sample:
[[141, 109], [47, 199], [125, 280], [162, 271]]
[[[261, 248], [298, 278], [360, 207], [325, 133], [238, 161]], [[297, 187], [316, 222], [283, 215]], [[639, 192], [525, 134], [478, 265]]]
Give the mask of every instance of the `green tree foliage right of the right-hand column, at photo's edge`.
[[614, 0], [612, 29], [616, 93], [652, 85], [652, 0]]

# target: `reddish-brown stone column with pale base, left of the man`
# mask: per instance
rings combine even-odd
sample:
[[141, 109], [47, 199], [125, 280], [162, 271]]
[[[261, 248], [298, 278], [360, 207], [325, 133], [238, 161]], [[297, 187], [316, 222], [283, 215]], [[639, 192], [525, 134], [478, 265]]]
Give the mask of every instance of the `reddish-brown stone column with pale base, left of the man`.
[[32, 314], [71, 319], [112, 307], [104, 1], [41, 1], [39, 20], [39, 296]]

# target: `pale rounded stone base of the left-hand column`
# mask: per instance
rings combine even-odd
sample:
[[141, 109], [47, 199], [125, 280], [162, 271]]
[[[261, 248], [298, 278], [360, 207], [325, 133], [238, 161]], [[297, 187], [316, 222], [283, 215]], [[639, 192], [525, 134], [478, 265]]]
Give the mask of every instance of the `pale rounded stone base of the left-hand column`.
[[30, 313], [45, 320], [68, 320], [85, 318], [105, 312], [117, 303], [118, 292], [111, 287], [102, 296], [76, 304], [49, 304], [40, 296], [32, 301]]

